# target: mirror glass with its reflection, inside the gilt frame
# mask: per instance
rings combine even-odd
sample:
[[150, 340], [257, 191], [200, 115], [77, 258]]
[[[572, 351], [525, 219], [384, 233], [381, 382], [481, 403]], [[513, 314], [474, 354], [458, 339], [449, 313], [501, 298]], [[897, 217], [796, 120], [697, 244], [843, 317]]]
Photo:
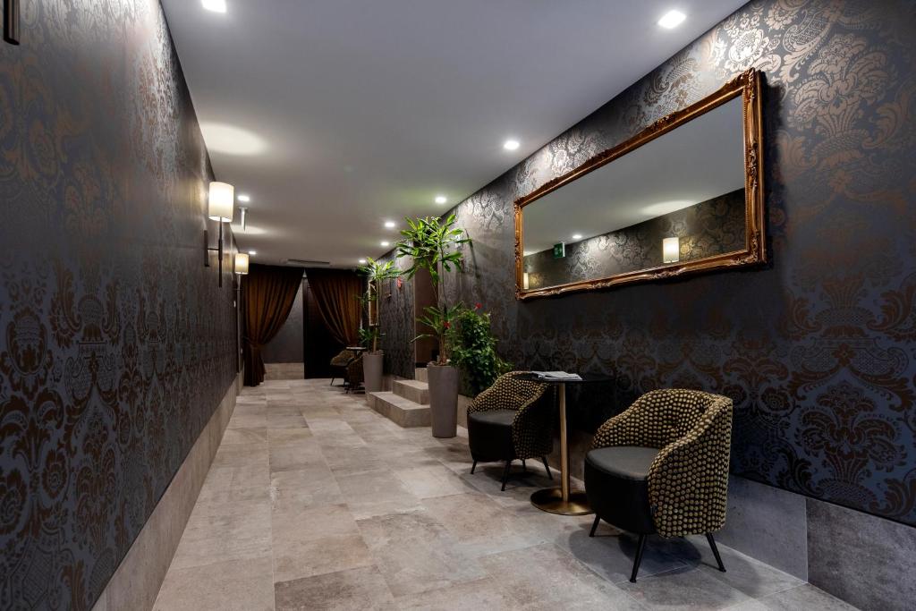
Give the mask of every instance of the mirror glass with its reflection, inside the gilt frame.
[[745, 247], [740, 97], [524, 208], [527, 289]]

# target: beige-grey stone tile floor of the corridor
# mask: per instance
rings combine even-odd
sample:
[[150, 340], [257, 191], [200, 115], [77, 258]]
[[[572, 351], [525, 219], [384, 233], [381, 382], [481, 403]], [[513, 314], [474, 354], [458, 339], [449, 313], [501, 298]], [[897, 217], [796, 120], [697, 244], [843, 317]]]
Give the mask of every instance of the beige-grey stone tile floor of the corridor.
[[701, 538], [635, 539], [470, 475], [466, 433], [400, 429], [328, 380], [245, 388], [159, 591], [156, 609], [850, 609]]

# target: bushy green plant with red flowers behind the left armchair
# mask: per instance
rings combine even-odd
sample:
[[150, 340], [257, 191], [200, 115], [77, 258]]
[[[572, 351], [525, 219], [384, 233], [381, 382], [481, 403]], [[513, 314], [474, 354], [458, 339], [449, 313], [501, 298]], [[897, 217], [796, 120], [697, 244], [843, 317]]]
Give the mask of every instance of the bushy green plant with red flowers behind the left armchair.
[[463, 308], [447, 334], [452, 344], [453, 363], [464, 372], [472, 397], [493, 386], [496, 378], [511, 371], [512, 365], [496, 354], [496, 338], [490, 330], [490, 315], [476, 304]]

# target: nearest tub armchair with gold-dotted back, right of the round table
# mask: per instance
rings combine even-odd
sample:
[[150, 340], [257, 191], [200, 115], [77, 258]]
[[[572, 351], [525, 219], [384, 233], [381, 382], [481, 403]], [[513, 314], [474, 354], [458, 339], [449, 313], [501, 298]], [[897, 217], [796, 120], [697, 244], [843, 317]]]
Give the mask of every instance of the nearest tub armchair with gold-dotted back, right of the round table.
[[653, 390], [607, 420], [585, 455], [585, 493], [602, 519], [639, 535], [631, 582], [649, 534], [706, 535], [725, 525], [732, 400], [699, 390]]

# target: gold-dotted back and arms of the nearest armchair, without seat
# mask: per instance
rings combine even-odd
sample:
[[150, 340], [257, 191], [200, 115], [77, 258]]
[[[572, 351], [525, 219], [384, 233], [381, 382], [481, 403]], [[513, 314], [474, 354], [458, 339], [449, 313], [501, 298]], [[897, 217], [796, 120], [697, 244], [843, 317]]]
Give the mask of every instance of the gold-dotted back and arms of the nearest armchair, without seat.
[[725, 525], [732, 400], [699, 390], [653, 390], [607, 420], [594, 448], [660, 449], [649, 467], [649, 505], [662, 537], [714, 532]]

